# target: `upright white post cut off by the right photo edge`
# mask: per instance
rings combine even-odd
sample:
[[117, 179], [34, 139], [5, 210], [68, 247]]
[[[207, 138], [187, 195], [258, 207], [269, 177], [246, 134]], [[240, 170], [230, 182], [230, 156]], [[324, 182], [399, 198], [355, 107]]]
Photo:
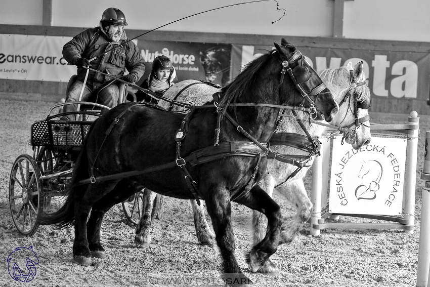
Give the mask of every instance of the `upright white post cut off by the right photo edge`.
[[430, 154], [427, 145], [430, 142], [430, 131], [425, 132], [424, 167], [421, 179], [425, 180], [422, 188], [421, 225], [419, 228], [418, 271], [416, 286], [426, 287], [430, 281]]

